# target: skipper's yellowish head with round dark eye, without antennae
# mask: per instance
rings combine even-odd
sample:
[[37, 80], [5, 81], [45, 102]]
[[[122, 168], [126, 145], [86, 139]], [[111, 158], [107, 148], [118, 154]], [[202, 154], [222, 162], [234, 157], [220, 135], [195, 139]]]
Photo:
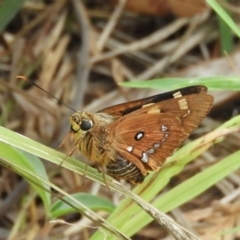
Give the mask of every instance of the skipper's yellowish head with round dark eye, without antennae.
[[75, 112], [70, 116], [71, 132], [85, 135], [93, 126], [92, 120], [85, 112]]

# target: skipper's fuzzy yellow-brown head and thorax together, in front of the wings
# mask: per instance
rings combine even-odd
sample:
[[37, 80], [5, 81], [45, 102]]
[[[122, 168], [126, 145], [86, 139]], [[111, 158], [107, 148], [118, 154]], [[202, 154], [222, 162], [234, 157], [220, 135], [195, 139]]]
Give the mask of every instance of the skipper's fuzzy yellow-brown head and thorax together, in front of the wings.
[[104, 151], [107, 125], [116, 117], [106, 113], [75, 112], [70, 116], [71, 132], [79, 150], [89, 160], [105, 163], [110, 161]]

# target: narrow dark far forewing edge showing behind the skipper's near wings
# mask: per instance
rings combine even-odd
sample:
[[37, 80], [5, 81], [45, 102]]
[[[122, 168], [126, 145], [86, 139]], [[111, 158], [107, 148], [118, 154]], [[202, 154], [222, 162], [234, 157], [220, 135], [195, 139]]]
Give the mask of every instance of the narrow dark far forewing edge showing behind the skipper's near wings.
[[198, 94], [202, 92], [207, 92], [207, 88], [205, 86], [197, 85], [197, 86], [190, 86], [185, 88], [180, 88], [174, 91], [161, 93], [155, 96], [139, 99], [132, 102], [122, 103], [115, 106], [111, 106], [108, 108], [104, 108], [99, 112], [108, 113], [111, 115], [117, 116], [124, 116], [137, 109], [140, 109], [143, 105], [151, 104], [151, 103], [158, 103], [160, 101], [168, 100], [174, 98], [176, 93], [180, 92], [182, 96], [191, 95], [191, 94]]

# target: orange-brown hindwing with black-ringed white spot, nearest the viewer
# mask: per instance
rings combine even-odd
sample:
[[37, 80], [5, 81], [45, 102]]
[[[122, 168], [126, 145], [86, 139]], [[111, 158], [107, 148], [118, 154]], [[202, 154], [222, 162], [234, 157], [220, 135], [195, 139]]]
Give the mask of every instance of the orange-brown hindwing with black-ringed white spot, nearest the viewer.
[[131, 115], [113, 123], [107, 142], [143, 175], [157, 170], [184, 137], [181, 121], [171, 114]]

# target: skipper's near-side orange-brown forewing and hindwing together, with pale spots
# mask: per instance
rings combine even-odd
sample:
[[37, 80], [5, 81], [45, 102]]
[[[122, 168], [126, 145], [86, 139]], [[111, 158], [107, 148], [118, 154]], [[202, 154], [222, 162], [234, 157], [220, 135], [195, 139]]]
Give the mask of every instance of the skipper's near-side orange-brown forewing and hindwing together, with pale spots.
[[149, 104], [107, 127], [107, 142], [145, 175], [156, 170], [198, 127], [209, 112], [213, 97], [205, 92]]

